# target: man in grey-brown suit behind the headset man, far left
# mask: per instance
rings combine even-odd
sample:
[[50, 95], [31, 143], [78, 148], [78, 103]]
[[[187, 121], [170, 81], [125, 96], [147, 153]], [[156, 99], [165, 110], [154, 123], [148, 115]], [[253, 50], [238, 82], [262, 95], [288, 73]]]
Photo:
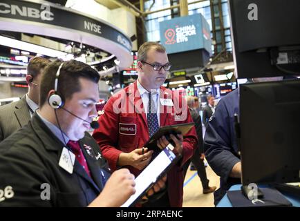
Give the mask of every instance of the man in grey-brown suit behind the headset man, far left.
[[41, 72], [50, 64], [44, 57], [33, 57], [27, 66], [28, 93], [19, 101], [0, 106], [0, 142], [25, 126], [39, 104]]

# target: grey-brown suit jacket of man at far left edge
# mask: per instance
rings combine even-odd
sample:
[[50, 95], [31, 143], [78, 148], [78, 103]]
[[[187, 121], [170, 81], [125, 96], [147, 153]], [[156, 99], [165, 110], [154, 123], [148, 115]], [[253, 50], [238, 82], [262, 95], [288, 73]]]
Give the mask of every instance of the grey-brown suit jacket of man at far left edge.
[[30, 120], [26, 95], [19, 101], [0, 106], [0, 142]]

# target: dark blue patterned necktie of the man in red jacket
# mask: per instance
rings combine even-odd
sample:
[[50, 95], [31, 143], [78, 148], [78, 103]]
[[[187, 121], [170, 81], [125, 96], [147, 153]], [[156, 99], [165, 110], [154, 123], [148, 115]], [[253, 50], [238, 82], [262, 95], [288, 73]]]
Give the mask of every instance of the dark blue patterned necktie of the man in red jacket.
[[149, 105], [148, 105], [148, 113], [147, 113], [147, 122], [148, 122], [148, 130], [149, 136], [152, 137], [154, 133], [160, 128], [158, 125], [158, 115], [156, 113], [156, 105], [152, 99], [151, 95], [157, 95], [157, 93], [148, 93], [149, 95]]

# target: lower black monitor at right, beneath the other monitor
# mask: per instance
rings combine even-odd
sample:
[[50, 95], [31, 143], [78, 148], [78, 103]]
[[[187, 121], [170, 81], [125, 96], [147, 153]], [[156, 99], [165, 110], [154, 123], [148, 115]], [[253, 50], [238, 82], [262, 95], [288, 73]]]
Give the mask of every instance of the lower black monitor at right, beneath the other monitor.
[[240, 85], [242, 183], [300, 182], [300, 80]]

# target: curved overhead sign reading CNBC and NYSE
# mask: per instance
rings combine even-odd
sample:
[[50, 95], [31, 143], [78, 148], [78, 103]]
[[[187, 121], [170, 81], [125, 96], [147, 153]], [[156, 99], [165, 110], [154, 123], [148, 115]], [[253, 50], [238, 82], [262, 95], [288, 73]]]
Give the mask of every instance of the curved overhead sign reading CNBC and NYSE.
[[120, 59], [120, 69], [133, 61], [131, 40], [121, 30], [47, 1], [1, 0], [0, 30], [57, 37], [101, 48]]

